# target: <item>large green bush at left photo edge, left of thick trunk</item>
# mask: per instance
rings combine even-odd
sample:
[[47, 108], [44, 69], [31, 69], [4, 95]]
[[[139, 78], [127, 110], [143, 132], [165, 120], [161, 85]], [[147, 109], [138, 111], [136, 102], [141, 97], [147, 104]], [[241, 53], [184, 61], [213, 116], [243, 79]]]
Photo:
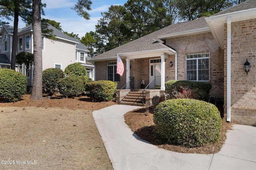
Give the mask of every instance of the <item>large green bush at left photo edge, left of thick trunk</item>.
[[20, 72], [0, 68], [0, 101], [13, 102], [26, 94], [27, 78]]

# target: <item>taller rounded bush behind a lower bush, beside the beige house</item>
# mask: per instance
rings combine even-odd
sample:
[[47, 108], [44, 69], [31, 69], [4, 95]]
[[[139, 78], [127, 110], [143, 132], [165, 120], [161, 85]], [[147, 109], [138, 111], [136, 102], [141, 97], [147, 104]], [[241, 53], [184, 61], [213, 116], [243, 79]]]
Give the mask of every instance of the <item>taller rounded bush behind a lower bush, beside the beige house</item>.
[[69, 64], [65, 68], [64, 72], [67, 76], [78, 76], [79, 78], [81, 78], [84, 82], [84, 86], [88, 82], [87, 70], [80, 63]]

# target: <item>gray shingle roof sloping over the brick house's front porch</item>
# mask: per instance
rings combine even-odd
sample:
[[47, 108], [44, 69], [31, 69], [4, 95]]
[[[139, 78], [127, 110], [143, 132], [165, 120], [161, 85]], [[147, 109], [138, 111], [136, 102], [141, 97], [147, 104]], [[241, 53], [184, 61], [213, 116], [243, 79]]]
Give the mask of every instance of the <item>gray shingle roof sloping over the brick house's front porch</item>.
[[[100, 61], [107, 59], [116, 58], [116, 53], [120, 54], [135, 54], [135, 53], [143, 53], [146, 51], [160, 51], [160, 50], [170, 50], [171, 47], [164, 45], [164, 41], [166, 37], [171, 34], [177, 34], [180, 32], [189, 33], [191, 30], [200, 30], [206, 29], [208, 32], [210, 31], [205, 19], [199, 18], [198, 20], [186, 21], [182, 23], [176, 23], [159, 29], [158, 31], [154, 31], [148, 35], [140, 37], [134, 41], [121, 45], [120, 47], [116, 47], [110, 51], [106, 51], [88, 61]], [[179, 35], [181, 36], [181, 35]], [[170, 52], [173, 54], [173, 52]], [[121, 55], [120, 55], [121, 57]]]

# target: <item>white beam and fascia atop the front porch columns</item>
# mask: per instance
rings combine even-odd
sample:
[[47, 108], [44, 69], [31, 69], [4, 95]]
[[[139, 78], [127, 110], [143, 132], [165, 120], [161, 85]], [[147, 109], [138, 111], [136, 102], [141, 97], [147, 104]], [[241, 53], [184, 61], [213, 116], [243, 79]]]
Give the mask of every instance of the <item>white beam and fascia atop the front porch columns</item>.
[[137, 51], [131, 53], [120, 53], [118, 54], [121, 58], [127, 59], [142, 59], [142, 58], [149, 58], [149, 57], [160, 57], [161, 55], [175, 55], [176, 51], [171, 48], [165, 49], [157, 49], [157, 50], [147, 50], [147, 51]]

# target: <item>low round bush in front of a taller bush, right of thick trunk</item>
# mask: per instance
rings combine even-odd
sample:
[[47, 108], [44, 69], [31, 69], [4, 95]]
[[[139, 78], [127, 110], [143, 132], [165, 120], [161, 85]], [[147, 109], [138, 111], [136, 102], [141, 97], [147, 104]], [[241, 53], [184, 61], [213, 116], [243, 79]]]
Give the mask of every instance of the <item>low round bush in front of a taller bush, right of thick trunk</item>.
[[84, 92], [84, 82], [76, 76], [65, 77], [59, 80], [58, 89], [61, 95], [68, 98], [78, 96]]

